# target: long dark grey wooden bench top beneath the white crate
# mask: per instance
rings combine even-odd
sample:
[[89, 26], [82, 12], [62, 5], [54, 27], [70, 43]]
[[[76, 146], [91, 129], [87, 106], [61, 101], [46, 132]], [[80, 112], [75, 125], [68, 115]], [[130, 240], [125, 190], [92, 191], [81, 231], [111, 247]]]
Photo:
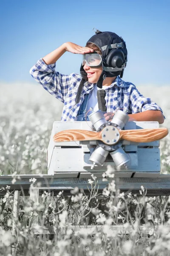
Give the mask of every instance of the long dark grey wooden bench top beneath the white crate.
[[[116, 174], [116, 173], [115, 173]], [[80, 174], [81, 175], [81, 174]], [[95, 174], [94, 174], [95, 175]], [[3, 177], [2, 177], [3, 176]], [[0, 188], [3, 186], [11, 186], [12, 190], [21, 191], [23, 189], [25, 195], [28, 195], [28, 189], [31, 184], [29, 181], [31, 175], [19, 175], [25, 176], [22, 177], [20, 180], [17, 180], [16, 183], [12, 184], [13, 176], [12, 175], [2, 175], [0, 177]], [[5, 176], [5, 177], [4, 177]], [[27, 178], [28, 176], [29, 178]], [[32, 178], [36, 178], [36, 183], [41, 183], [39, 188], [40, 194], [42, 194], [43, 190], [51, 190], [60, 191], [64, 190], [65, 195], [70, 195], [70, 190], [74, 187], [79, 187], [79, 189], [83, 188], [88, 192], [87, 187], [90, 187], [88, 183], [89, 177], [74, 177], [74, 178], [65, 178], [65, 173], [63, 172], [62, 178], [48, 178], [49, 175], [44, 175], [45, 177], [37, 177], [39, 175], [32, 175]], [[139, 194], [139, 189], [141, 186], [147, 189], [147, 195], [170, 195], [170, 175], [159, 175], [158, 177], [115, 177], [114, 178], [116, 187], [123, 192], [131, 191], [132, 193]], [[103, 189], [107, 186], [108, 181], [103, 182], [102, 178], [98, 178], [99, 188]], [[0, 192], [1, 195], [4, 195], [4, 191]]]

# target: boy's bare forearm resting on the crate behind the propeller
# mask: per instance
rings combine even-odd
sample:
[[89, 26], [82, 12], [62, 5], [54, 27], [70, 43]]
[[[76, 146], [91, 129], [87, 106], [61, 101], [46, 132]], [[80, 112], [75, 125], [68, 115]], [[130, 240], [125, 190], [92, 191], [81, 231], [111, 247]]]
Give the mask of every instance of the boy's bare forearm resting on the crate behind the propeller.
[[164, 116], [159, 110], [147, 110], [136, 114], [129, 114], [130, 119], [135, 119], [136, 121], [153, 121], [163, 124]]

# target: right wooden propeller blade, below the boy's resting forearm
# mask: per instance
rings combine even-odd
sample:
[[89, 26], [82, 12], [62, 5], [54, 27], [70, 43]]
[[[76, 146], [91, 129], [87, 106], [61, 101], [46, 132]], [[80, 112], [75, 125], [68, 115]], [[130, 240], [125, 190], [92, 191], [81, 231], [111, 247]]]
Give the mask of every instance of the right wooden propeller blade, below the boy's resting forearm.
[[155, 128], [155, 129], [137, 129], [137, 130], [123, 130], [120, 132], [119, 140], [130, 140], [133, 142], [152, 142], [155, 140], [161, 140], [168, 134], [167, 128]]

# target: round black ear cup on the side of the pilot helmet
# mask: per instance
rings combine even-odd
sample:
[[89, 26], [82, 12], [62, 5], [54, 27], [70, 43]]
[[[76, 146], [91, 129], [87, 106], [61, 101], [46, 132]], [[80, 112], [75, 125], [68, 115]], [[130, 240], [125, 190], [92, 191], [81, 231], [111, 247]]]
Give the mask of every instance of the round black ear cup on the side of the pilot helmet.
[[122, 67], [125, 63], [125, 55], [121, 49], [111, 49], [105, 58], [108, 67]]

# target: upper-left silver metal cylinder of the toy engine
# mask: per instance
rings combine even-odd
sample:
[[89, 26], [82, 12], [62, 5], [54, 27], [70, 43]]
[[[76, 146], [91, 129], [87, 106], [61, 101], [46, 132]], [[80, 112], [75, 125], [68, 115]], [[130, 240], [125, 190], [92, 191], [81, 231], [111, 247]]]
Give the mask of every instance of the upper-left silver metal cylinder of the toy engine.
[[96, 131], [100, 128], [100, 126], [105, 127], [105, 125], [107, 123], [105, 116], [101, 110], [92, 112], [89, 115], [89, 119], [91, 120], [91, 123], [94, 126], [94, 128], [96, 129]]

